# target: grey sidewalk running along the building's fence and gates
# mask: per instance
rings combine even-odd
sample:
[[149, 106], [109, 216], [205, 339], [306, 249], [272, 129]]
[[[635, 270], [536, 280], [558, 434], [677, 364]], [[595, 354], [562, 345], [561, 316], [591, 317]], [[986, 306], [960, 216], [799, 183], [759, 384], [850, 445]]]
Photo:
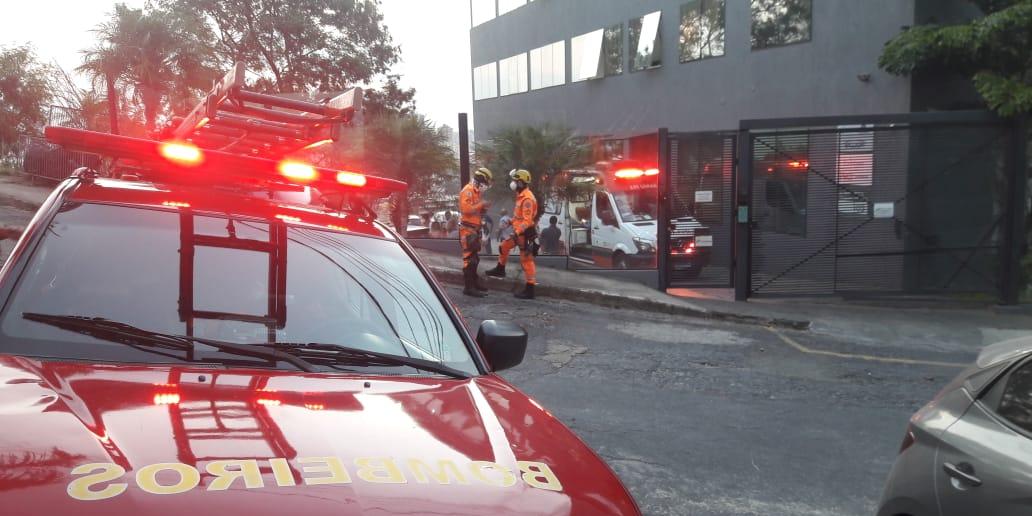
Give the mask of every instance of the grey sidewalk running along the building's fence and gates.
[[[439, 280], [461, 285], [459, 258], [419, 249]], [[481, 269], [493, 264], [482, 263]], [[488, 278], [489, 288], [508, 295], [520, 285], [519, 265], [510, 263], [505, 280]], [[779, 299], [735, 302], [720, 298], [684, 298], [644, 285], [571, 270], [538, 268], [537, 292], [542, 297], [569, 299], [613, 308], [664, 312], [773, 329], [807, 330], [814, 338], [850, 343], [858, 352], [890, 345], [904, 354], [931, 351], [970, 360], [983, 346], [1032, 334], [1028, 307], [950, 307], [905, 300], [871, 305], [834, 299]]]

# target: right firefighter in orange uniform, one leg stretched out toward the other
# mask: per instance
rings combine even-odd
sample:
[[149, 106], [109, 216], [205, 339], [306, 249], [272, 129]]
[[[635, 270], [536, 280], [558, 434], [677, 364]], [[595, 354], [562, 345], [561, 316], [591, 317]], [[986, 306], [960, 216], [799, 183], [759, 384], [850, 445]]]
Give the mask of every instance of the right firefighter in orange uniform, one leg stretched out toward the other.
[[506, 261], [513, 248], [519, 248], [519, 263], [526, 277], [526, 287], [517, 292], [520, 299], [534, 299], [537, 285], [537, 266], [534, 257], [538, 254], [538, 199], [530, 192], [530, 172], [519, 169], [509, 172], [509, 188], [516, 192], [516, 207], [513, 208], [513, 235], [498, 246], [498, 264], [487, 271], [494, 278], [506, 277]]

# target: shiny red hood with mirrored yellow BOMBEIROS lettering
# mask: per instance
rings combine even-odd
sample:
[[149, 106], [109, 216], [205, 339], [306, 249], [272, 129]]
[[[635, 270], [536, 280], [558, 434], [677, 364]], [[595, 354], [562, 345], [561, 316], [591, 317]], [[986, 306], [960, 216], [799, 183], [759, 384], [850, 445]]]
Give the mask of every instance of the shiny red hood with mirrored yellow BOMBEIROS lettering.
[[5, 514], [635, 514], [535, 400], [470, 380], [0, 356]]

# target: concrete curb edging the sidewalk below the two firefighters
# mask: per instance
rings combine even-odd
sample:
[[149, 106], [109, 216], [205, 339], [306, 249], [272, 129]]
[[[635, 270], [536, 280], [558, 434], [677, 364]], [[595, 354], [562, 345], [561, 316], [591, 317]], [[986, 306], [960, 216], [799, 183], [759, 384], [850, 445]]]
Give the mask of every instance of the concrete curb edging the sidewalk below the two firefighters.
[[[462, 285], [462, 271], [447, 267], [429, 265], [429, 269], [437, 277], [438, 281], [453, 285]], [[483, 278], [483, 277], [481, 277]], [[514, 292], [520, 285], [514, 280], [502, 280], [497, 278], [486, 278], [485, 284], [491, 290], [502, 292]], [[687, 307], [676, 303], [662, 302], [654, 299], [646, 299], [638, 296], [618, 295], [612, 292], [601, 290], [578, 289], [554, 285], [539, 285], [536, 289], [539, 296], [552, 297], [555, 299], [567, 299], [570, 301], [588, 302], [599, 307], [611, 309], [634, 309], [647, 312], [658, 312], [663, 314], [698, 317], [715, 321], [727, 321], [742, 324], [752, 324], [756, 326], [770, 326], [795, 330], [805, 330], [810, 328], [810, 321], [780, 319], [772, 317], [750, 316], [735, 314], [730, 312], [714, 312], [695, 307]]]

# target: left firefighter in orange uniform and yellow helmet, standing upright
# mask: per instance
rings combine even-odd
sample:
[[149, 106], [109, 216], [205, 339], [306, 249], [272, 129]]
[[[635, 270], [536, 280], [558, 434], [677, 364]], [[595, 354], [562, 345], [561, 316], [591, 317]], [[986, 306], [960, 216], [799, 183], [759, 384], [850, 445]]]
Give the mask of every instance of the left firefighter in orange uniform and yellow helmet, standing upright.
[[458, 211], [461, 215], [458, 241], [462, 246], [462, 278], [465, 287], [462, 293], [473, 297], [484, 297], [487, 288], [480, 283], [477, 266], [480, 265], [482, 217], [490, 203], [480, 199], [480, 193], [491, 186], [493, 175], [487, 168], [480, 167], [473, 172], [470, 184], [458, 193]]

